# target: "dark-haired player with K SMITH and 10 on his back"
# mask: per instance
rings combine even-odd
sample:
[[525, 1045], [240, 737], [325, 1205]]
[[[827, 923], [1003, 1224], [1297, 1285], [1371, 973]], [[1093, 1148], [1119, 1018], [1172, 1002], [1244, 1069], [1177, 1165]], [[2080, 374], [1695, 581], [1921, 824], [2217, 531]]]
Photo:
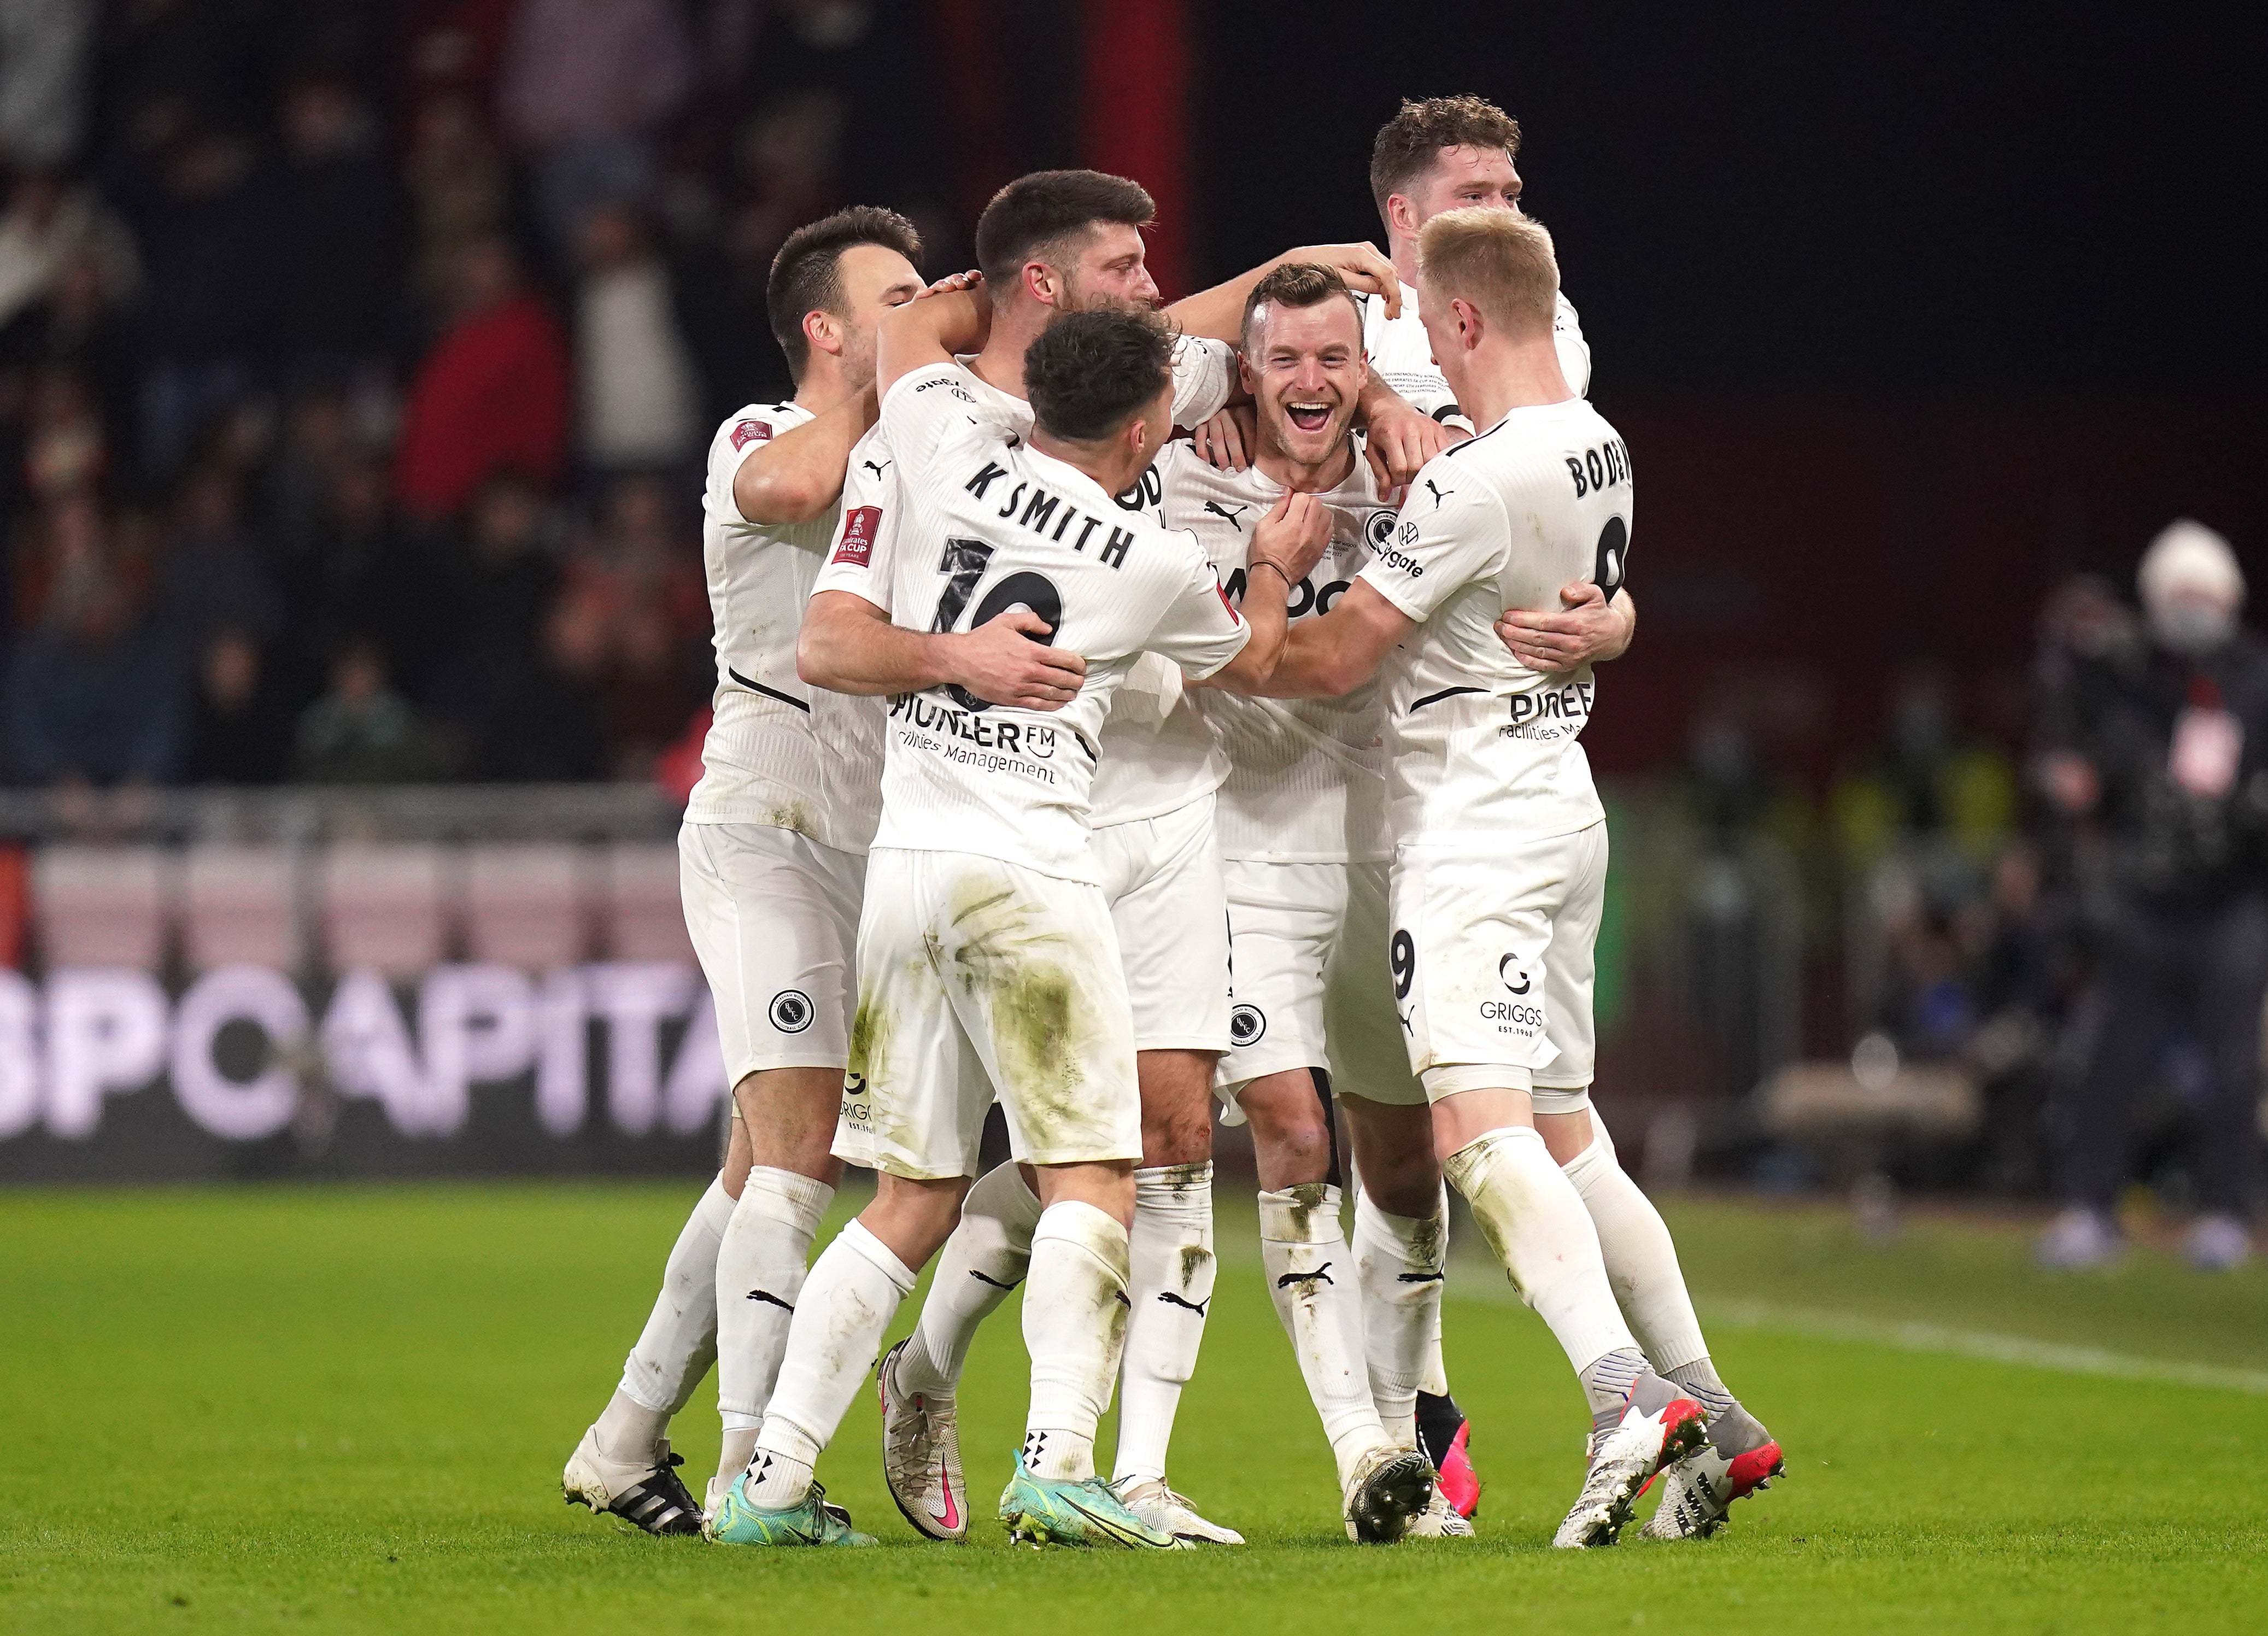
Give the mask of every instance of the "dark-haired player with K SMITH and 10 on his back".
[[[1173, 431], [1175, 338], [1157, 315], [1107, 304], [1036, 336], [1018, 370], [1032, 418], [1012, 429], [946, 345], [964, 306], [982, 318], [982, 290], [885, 322], [880, 429], [905, 515], [869, 551], [862, 594], [889, 626], [841, 642], [828, 674], [835, 688], [896, 694], [837, 1137], [837, 1153], [875, 1166], [878, 1191], [805, 1282], [755, 1464], [712, 1538], [866, 1541], [826, 1509], [812, 1468], [953, 1232], [998, 1098], [1041, 1203], [1023, 1302], [1032, 1400], [1000, 1516], [1021, 1538], [1166, 1550], [1182, 1541], [1093, 1468], [1125, 1336], [1143, 1144], [1134, 1012], [1086, 844], [1089, 794], [1102, 722], [1143, 651], [1259, 688], [1281, 651], [1284, 606], [1254, 599], [1245, 624], [1195, 540], [1114, 499]], [[1284, 506], [1261, 549], [1290, 585], [1320, 542], [1320, 515]], [[998, 706], [934, 669], [905, 690], [907, 649], [1012, 606], [1084, 658], [1059, 712]], [[1431, 1486], [1422, 1457], [1411, 1461], [1377, 1473], [1365, 1516], [1381, 1527], [1406, 1513], [1413, 1486]], [[950, 1525], [966, 1493], [939, 1502]]]

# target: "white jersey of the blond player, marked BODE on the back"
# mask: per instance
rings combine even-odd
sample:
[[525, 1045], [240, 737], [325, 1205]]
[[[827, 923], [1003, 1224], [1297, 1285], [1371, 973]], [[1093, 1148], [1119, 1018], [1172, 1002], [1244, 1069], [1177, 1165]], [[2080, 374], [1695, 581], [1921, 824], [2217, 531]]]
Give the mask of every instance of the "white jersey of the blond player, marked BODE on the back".
[[1497, 640], [1506, 608], [1560, 585], [1622, 590], [1631, 452], [1581, 397], [1515, 408], [1427, 461], [1363, 581], [1417, 619], [1386, 663], [1397, 842], [1572, 835], [1606, 817], [1576, 742], [1590, 667], [1545, 676]]

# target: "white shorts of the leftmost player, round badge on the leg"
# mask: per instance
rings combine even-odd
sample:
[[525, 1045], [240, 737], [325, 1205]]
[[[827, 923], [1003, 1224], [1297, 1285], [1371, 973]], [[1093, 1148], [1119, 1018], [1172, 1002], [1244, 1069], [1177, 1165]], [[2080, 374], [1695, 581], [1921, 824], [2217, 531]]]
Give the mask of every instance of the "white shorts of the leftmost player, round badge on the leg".
[[678, 894], [717, 998], [726, 1080], [841, 1069], [866, 860], [771, 824], [680, 824]]

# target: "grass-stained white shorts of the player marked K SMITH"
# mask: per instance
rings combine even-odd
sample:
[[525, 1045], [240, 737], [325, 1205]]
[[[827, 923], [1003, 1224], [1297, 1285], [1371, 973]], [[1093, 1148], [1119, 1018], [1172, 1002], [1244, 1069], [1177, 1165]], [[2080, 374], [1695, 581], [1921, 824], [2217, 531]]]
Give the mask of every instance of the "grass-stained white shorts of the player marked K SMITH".
[[1134, 1017], [1100, 887], [878, 846], [857, 960], [837, 1157], [975, 1175], [998, 1096], [1025, 1164], [1141, 1159]]

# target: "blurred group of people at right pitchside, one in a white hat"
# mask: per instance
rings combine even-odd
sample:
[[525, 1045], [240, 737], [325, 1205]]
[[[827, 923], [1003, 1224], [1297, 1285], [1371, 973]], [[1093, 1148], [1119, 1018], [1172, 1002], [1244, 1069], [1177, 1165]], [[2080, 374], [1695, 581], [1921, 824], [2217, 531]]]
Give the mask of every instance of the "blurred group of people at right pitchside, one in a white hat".
[[[1787, 1003], [1810, 1001], [1814, 1051], [1855, 1039], [1853, 1078], [1871, 1091], [1901, 1069], [1971, 1087], [1966, 1139], [1903, 1162], [1926, 1180], [2057, 1200], [2039, 1243], [2048, 1266], [2118, 1257], [2136, 1182], [2186, 1223], [2193, 1264], [2250, 1255], [2268, 644], [2243, 629], [2243, 604], [2229, 542], [2175, 522], [2141, 554], [2132, 597], [2100, 576], [2048, 597], [2028, 688], [1971, 688], [1962, 710], [1941, 669], [1910, 672], [1880, 744], [1819, 806], [1735, 719], [1710, 717], [1694, 740], [1685, 792], [1703, 865], [1687, 926], [1699, 983], [1715, 989], [1690, 1010], [1746, 1023], [1769, 1007], [1742, 989], [1758, 917], [1737, 892], [1735, 912], [1712, 905], [1708, 860], [1740, 862], [1751, 899], [1769, 876], [1760, 853], [1792, 860], [1805, 876], [1794, 914], [1810, 924], [1789, 928], [1789, 948], [1828, 951], [1810, 969], [1789, 955], [1783, 973], [1808, 989]], [[1726, 1089], [1774, 1066], [1735, 1053]], [[1871, 1155], [1901, 1157], [1880, 1141]]]

